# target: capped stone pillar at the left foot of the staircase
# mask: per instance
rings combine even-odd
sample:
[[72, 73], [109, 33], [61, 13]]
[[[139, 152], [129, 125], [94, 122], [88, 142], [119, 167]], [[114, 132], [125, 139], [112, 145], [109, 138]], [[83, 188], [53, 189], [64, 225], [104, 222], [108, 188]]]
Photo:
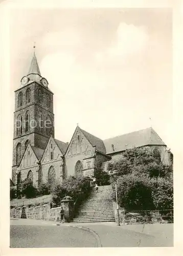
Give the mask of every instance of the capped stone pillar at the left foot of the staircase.
[[74, 209], [74, 201], [71, 197], [64, 197], [61, 200], [61, 207], [63, 207], [64, 210], [64, 219], [65, 222], [70, 222], [73, 220], [73, 209]]

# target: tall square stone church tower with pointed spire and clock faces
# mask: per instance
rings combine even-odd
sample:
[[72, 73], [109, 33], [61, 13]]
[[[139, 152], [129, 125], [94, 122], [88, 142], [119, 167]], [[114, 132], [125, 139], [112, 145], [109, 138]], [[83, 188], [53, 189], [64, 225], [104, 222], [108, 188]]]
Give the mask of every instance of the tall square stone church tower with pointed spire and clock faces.
[[41, 76], [35, 52], [29, 72], [15, 91], [12, 181], [30, 143], [44, 150], [50, 136], [54, 138], [53, 93]]

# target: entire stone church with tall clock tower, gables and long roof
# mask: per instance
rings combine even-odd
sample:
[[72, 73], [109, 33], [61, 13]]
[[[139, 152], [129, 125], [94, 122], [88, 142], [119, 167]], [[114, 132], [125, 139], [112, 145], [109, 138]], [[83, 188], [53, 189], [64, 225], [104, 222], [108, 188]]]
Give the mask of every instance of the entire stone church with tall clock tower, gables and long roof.
[[150, 146], [161, 152], [168, 164], [171, 152], [152, 127], [101, 140], [78, 125], [70, 143], [55, 139], [53, 92], [41, 76], [35, 52], [29, 72], [15, 91], [12, 182], [30, 178], [40, 182], [59, 182], [72, 175], [93, 176], [102, 164], [121, 157], [128, 148]]

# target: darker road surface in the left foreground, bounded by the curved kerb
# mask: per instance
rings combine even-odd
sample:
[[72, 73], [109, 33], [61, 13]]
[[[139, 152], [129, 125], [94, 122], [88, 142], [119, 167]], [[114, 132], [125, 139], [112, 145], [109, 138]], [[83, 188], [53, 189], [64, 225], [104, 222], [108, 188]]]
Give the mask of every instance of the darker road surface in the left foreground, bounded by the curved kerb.
[[10, 247], [98, 247], [98, 244], [92, 233], [78, 227], [12, 225]]

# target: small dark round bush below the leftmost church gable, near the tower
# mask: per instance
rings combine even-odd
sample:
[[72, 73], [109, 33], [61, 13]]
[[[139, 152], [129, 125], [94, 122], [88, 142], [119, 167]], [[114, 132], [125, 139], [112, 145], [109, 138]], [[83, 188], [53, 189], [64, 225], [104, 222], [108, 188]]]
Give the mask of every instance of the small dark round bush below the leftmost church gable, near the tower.
[[33, 198], [38, 195], [37, 188], [33, 186], [32, 180], [26, 178], [19, 184], [19, 195], [26, 196], [26, 198]]

